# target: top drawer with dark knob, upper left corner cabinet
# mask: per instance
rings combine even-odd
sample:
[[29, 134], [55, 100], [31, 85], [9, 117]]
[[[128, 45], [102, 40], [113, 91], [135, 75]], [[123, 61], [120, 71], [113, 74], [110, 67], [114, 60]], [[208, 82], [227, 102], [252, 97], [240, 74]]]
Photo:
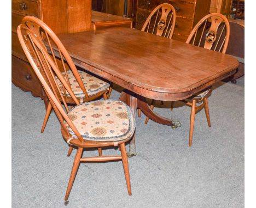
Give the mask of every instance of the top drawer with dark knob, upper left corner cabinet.
[[18, 13], [38, 16], [37, 1], [11, 0], [11, 9]]

